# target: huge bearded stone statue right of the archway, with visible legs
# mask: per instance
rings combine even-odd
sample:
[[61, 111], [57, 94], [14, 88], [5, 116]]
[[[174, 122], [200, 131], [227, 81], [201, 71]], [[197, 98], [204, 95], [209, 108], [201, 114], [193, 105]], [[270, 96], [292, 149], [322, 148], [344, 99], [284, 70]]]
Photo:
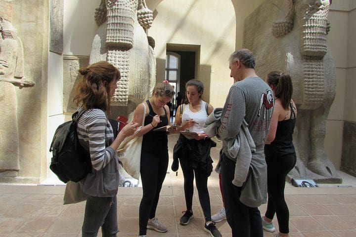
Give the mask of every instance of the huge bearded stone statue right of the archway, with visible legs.
[[330, 4], [331, 0], [266, 0], [244, 26], [244, 47], [255, 53], [258, 75], [281, 70], [293, 80], [297, 164], [289, 177], [319, 183], [342, 181], [324, 149], [326, 118], [336, 93], [336, 69], [326, 41]]

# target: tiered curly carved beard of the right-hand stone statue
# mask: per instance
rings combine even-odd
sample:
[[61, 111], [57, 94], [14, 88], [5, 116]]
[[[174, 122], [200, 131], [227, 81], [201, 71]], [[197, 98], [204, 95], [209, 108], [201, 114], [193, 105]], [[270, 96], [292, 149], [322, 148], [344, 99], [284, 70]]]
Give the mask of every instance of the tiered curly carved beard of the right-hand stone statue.
[[323, 58], [327, 52], [326, 28], [329, 4], [315, 8], [315, 5], [297, 0], [296, 13], [301, 24], [301, 54]]

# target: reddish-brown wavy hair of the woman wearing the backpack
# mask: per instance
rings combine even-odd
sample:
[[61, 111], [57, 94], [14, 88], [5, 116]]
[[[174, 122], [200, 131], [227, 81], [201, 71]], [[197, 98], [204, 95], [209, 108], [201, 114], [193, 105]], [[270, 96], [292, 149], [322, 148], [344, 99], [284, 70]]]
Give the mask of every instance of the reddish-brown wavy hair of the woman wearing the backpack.
[[110, 86], [121, 78], [119, 70], [112, 64], [100, 61], [79, 69], [82, 76], [77, 85], [73, 101], [83, 104], [85, 110], [100, 109], [110, 113]]

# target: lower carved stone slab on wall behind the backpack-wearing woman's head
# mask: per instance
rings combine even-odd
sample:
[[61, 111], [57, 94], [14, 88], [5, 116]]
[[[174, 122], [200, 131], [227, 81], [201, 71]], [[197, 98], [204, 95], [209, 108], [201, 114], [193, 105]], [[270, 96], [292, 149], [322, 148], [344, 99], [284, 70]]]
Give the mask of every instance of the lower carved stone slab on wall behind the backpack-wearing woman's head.
[[77, 105], [73, 102], [80, 76], [78, 70], [87, 67], [89, 57], [63, 56], [63, 113], [73, 114]]

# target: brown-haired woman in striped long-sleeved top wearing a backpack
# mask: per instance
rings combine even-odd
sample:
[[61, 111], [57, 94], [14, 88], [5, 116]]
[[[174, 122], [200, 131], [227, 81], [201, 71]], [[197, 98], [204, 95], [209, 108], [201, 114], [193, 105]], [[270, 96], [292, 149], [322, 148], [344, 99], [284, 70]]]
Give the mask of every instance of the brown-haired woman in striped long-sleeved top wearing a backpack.
[[116, 195], [119, 186], [117, 148], [134, 133], [137, 123], [127, 124], [114, 139], [106, 113], [110, 113], [110, 99], [117, 88], [120, 72], [113, 65], [101, 61], [79, 69], [82, 79], [74, 101], [85, 112], [78, 119], [80, 145], [90, 154], [92, 172], [80, 181], [88, 196], [82, 227], [82, 237], [96, 237], [99, 228], [103, 237], [116, 237]]

